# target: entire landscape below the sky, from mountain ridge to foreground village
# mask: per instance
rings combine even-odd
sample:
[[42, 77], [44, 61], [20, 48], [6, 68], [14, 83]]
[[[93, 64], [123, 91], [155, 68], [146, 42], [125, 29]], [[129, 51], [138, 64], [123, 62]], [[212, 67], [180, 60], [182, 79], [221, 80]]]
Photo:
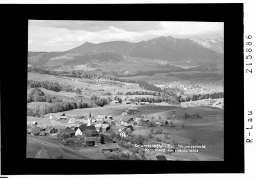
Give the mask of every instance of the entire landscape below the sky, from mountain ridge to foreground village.
[[29, 51], [27, 158], [223, 161], [223, 46], [159, 36]]

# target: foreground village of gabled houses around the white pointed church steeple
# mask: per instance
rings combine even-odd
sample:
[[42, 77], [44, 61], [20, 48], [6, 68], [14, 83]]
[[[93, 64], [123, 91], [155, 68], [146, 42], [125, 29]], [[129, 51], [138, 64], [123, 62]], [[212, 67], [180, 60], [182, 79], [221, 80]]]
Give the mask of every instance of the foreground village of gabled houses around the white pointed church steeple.
[[[145, 103], [142, 105], [144, 104]], [[78, 115], [74, 118], [64, 113], [51, 114], [49, 115], [51, 125], [28, 121], [27, 134], [35, 137], [62, 140], [63, 143], [69, 140], [81, 146], [93, 148], [94, 151], [100, 154], [120, 152], [124, 151], [125, 148], [123, 147], [122, 149], [122, 146], [115, 140], [116, 137], [125, 142], [129, 142], [132, 136], [138, 137], [138, 132], [140, 131], [136, 128], [137, 126], [144, 126], [148, 128], [148, 131], [150, 130], [148, 123], [152, 119], [147, 118], [145, 115], [134, 118], [132, 115], [137, 112], [137, 107], [132, 105], [127, 110], [120, 113], [120, 116], [116, 116], [115, 118], [111, 115], [97, 115], [94, 117], [91, 115], [91, 111], [88, 116]], [[173, 118], [175, 118], [175, 115], [173, 115]], [[172, 123], [164, 119], [157, 119], [154, 124], [162, 127]], [[138, 131], [135, 135], [132, 135], [134, 130]], [[143, 133], [141, 133], [141, 135], [142, 134]], [[127, 152], [130, 155], [133, 154], [133, 152], [129, 150], [124, 152], [125, 154], [127, 154]], [[163, 154], [152, 156], [136, 154], [136, 156], [138, 160], [167, 160]]]

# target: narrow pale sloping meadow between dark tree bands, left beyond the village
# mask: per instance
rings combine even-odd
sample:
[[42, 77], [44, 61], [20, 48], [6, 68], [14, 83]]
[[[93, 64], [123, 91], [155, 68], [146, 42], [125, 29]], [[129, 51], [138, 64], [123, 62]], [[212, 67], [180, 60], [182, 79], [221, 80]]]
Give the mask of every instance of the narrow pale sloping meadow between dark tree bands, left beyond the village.
[[[31, 90], [33, 88], [28, 89], [28, 93], [31, 93]], [[90, 103], [91, 102], [91, 97], [90, 96], [78, 96], [76, 93], [71, 93], [71, 92], [67, 92], [67, 91], [52, 91], [52, 90], [47, 90], [45, 88], [39, 88], [40, 90], [42, 90], [45, 95], [49, 95], [51, 97], [55, 96], [58, 99], [61, 99], [62, 101], [71, 101], [71, 100], [82, 100], [84, 103]], [[32, 102], [32, 103], [46, 103], [46, 102]], [[42, 105], [42, 104], [41, 104]]]

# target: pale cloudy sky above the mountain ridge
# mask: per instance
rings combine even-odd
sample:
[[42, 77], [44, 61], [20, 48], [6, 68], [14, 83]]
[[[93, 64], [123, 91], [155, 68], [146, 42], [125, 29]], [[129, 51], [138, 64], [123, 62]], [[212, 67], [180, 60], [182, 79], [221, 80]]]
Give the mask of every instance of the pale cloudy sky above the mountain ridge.
[[208, 38], [224, 36], [223, 22], [29, 20], [28, 50], [62, 52], [85, 42], [139, 42], [160, 36]]

